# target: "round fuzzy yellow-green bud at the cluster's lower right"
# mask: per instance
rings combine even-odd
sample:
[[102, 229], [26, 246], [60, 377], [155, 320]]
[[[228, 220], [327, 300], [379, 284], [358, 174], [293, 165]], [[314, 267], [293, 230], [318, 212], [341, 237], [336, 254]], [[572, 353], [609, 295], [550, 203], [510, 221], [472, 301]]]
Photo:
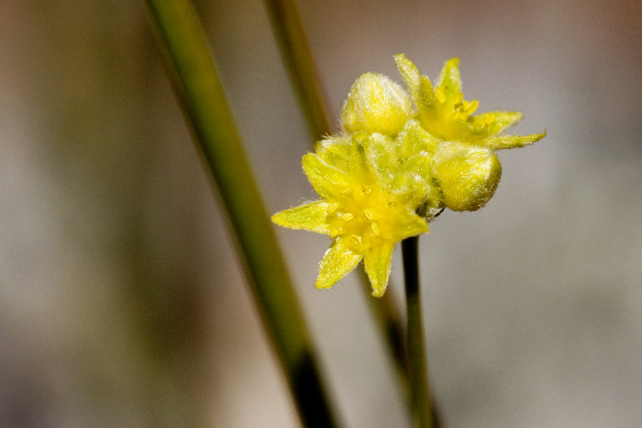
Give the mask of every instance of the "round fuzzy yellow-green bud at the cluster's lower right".
[[493, 151], [465, 143], [442, 143], [432, 168], [445, 205], [454, 211], [479, 210], [492, 198], [501, 178], [501, 164]]

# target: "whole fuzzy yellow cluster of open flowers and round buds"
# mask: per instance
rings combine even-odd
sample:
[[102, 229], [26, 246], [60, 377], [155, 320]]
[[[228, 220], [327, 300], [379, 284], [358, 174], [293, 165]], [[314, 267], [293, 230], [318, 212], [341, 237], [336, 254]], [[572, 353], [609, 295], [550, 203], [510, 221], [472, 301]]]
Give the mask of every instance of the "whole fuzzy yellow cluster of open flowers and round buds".
[[504, 135], [521, 113], [472, 116], [478, 102], [463, 98], [457, 58], [445, 63], [437, 86], [404, 54], [395, 60], [408, 91], [387, 76], [360, 76], [342, 107], [342, 133], [303, 156], [322, 200], [272, 216], [278, 225], [333, 239], [317, 288], [332, 287], [364, 260], [372, 295], [383, 295], [399, 241], [426, 233], [444, 208], [484, 206], [501, 176], [494, 151], [545, 136]]

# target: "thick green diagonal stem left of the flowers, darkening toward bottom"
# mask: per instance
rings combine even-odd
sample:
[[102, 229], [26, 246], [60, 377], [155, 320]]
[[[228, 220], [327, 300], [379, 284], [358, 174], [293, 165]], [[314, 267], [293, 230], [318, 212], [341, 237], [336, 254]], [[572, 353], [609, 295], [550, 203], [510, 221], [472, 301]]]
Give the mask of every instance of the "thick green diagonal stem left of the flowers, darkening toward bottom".
[[248, 279], [306, 427], [335, 427], [302, 312], [189, 0], [147, 0], [175, 91], [228, 212]]

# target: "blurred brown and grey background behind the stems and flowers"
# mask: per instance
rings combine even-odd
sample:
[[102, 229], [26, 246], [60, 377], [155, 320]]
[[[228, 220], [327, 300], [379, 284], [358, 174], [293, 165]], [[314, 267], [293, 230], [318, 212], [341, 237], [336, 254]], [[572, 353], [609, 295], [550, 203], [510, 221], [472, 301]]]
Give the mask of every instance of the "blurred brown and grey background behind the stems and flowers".
[[[404, 52], [549, 133], [421, 239], [448, 426], [641, 427], [642, 3], [300, 3], [335, 118]], [[268, 209], [315, 198], [263, 3], [198, 7]], [[0, 58], [0, 426], [297, 427], [143, 1], [3, 0]], [[277, 233], [342, 419], [410, 427], [356, 275], [315, 290], [327, 238]]]

